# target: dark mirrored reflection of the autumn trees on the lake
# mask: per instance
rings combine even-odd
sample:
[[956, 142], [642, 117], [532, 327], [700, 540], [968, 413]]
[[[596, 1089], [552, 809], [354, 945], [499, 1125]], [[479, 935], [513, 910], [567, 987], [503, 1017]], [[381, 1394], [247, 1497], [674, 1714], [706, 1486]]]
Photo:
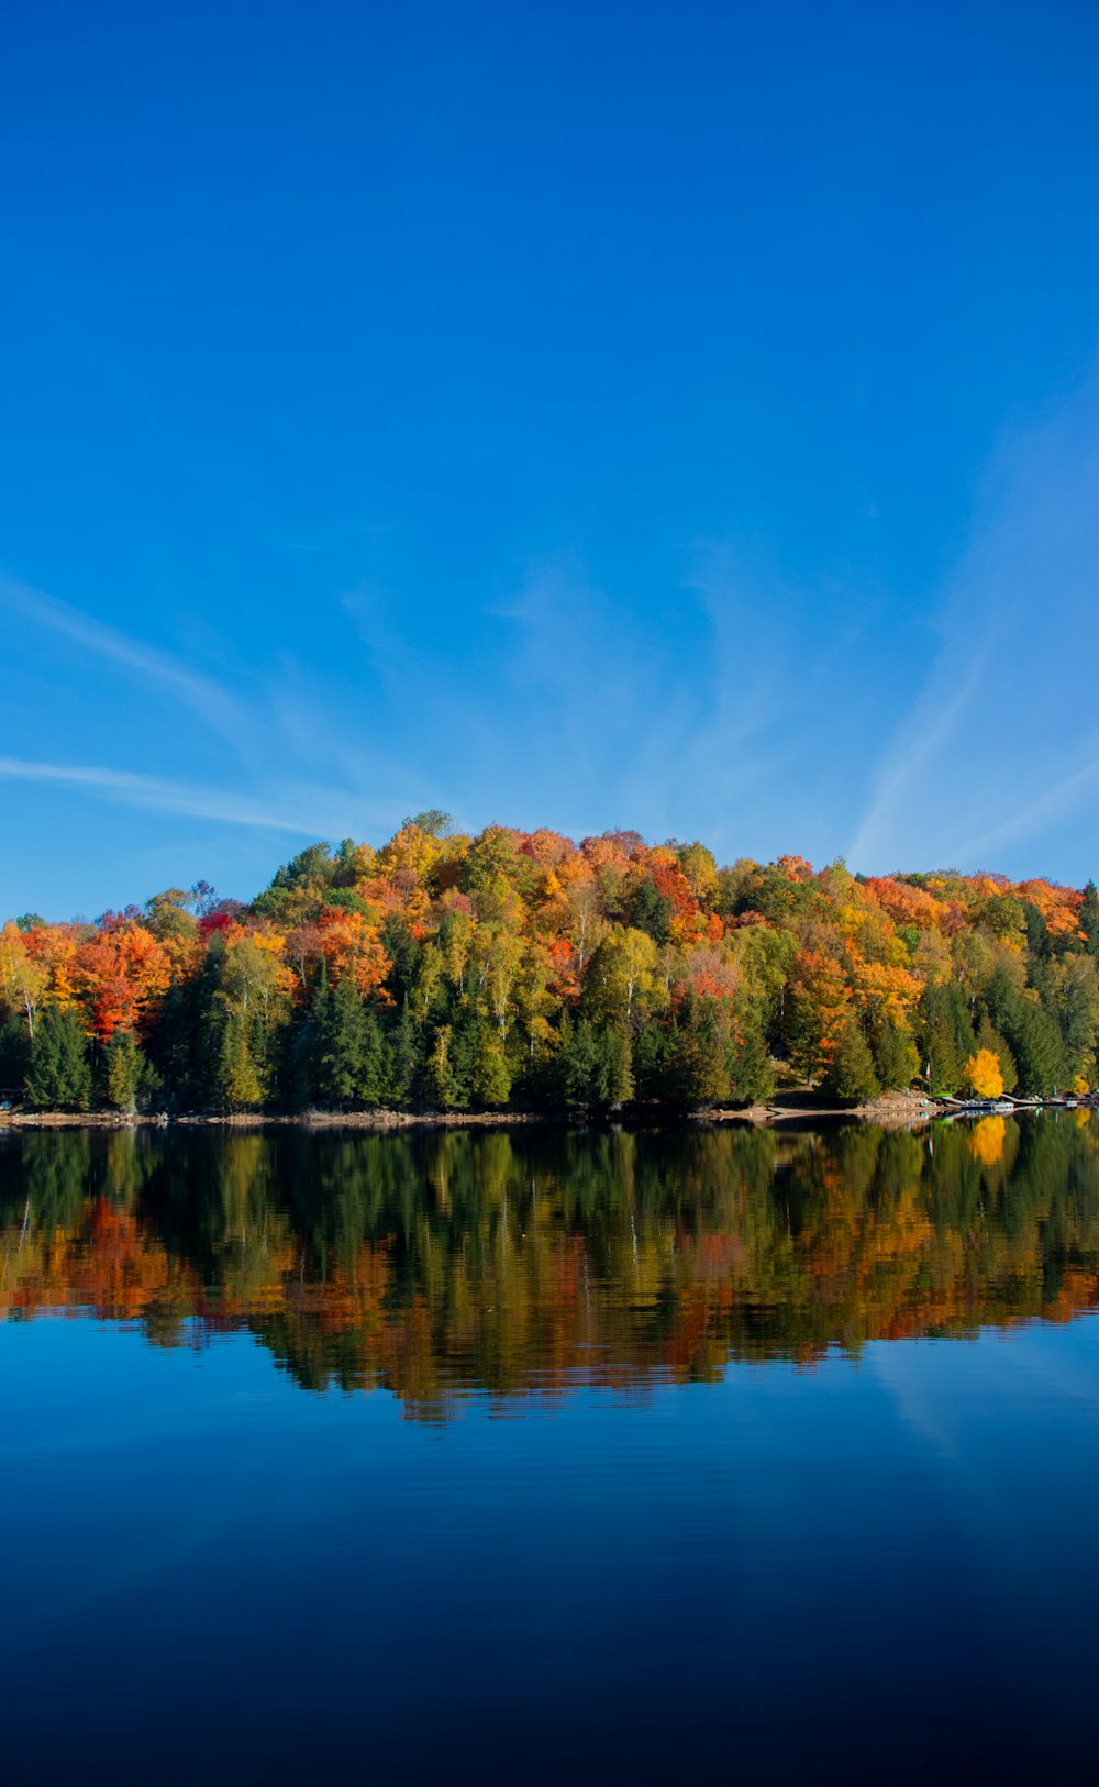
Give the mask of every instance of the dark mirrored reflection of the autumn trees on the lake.
[[1099, 1138], [41, 1131], [0, 1151], [0, 1308], [248, 1328], [309, 1388], [554, 1396], [1099, 1303]]

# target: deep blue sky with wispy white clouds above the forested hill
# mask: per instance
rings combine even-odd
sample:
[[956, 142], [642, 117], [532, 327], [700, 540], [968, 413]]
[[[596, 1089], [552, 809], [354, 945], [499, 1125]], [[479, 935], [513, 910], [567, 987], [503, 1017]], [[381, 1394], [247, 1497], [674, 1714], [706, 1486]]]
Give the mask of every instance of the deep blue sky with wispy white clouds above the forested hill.
[[1099, 870], [1092, 5], [5, 20], [0, 911]]

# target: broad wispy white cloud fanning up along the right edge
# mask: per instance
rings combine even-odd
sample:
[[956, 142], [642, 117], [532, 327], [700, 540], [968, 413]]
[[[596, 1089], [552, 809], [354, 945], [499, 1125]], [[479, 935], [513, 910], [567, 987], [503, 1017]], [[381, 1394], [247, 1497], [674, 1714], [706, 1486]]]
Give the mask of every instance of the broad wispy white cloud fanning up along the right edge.
[[1010, 851], [1017, 872], [1088, 872], [1081, 827], [1072, 842], [1063, 818], [1099, 817], [1097, 599], [1094, 373], [988, 470], [936, 602], [940, 649], [874, 767], [852, 865], [1011, 867], [992, 861]]

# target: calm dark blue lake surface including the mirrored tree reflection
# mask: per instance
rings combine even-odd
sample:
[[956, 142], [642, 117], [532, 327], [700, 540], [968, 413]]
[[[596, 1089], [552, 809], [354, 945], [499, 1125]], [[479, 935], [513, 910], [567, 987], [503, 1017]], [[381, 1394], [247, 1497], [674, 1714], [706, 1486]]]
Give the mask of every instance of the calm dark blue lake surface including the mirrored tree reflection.
[[0, 1138], [7, 1778], [1094, 1771], [1099, 1131]]

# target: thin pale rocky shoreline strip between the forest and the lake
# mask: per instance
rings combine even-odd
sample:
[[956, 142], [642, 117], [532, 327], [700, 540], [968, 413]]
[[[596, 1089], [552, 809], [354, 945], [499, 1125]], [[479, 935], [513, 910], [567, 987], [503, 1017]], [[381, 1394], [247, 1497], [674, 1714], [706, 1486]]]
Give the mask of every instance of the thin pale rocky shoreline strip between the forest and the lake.
[[752, 1129], [783, 1129], [817, 1126], [824, 1122], [876, 1124], [881, 1129], [920, 1129], [942, 1115], [940, 1110], [917, 1094], [893, 1092], [868, 1099], [863, 1104], [822, 1104], [811, 1092], [777, 1094], [772, 1099], [747, 1106], [713, 1106], [701, 1110], [658, 1110], [633, 1106], [622, 1112], [590, 1115], [559, 1106], [556, 1110], [515, 1112], [23, 1112], [0, 1113], [4, 1129], [357, 1129], [379, 1133], [397, 1129], [511, 1129], [558, 1128], [597, 1129], [608, 1124], [629, 1129], [708, 1128], [745, 1124]]

